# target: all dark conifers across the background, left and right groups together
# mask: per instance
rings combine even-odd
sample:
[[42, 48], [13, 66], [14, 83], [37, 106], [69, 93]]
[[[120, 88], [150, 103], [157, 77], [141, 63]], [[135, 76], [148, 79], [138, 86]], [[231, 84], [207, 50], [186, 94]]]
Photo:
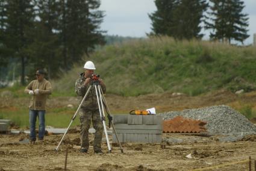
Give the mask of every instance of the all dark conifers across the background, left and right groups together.
[[[106, 40], [122, 42], [122, 37], [104, 38], [100, 5], [100, 0], [0, 0], [0, 67], [19, 64], [25, 84], [25, 75], [35, 68], [45, 68], [54, 78]], [[203, 28], [220, 42], [243, 43], [249, 37], [243, 1], [155, 0], [155, 5], [149, 37], [202, 39]]]

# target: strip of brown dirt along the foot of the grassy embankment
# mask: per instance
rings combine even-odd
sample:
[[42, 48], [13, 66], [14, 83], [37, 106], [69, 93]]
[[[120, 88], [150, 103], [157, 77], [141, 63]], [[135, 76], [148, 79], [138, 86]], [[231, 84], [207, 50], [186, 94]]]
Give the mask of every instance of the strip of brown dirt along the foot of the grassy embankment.
[[[189, 108], [208, 107], [212, 105], [229, 105], [239, 109], [244, 105], [250, 105], [256, 110], [256, 91], [236, 95], [228, 90], [217, 90], [200, 96], [174, 95], [173, 93], [161, 93], [140, 95], [137, 97], [123, 97], [113, 94], [105, 95], [112, 113], [128, 114], [131, 110], [144, 110], [155, 107], [157, 113], [164, 111], [180, 111]], [[76, 97], [49, 97], [48, 108], [63, 108], [68, 104], [77, 107], [79, 99]], [[1, 108], [28, 106], [30, 98], [5, 98], [0, 101]]]

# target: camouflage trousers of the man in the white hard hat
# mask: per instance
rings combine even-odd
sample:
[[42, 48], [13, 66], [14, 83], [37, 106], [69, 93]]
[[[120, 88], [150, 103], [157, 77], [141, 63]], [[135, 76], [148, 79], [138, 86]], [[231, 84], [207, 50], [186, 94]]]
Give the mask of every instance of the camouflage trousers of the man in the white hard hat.
[[91, 120], [93, 123], [93, 128], [96, 129], [93, 141], [93, 149], [95, 151], [98, 151], [99, 149], [101, 149], [101, 139], [103, 133], [103, 124], [101, 121], [101, 116], [99, 115], [99, 110], [84, 111], [83, 109], [81, 109], [80, 111], [81, 148], [89, 149], [89, 128]]

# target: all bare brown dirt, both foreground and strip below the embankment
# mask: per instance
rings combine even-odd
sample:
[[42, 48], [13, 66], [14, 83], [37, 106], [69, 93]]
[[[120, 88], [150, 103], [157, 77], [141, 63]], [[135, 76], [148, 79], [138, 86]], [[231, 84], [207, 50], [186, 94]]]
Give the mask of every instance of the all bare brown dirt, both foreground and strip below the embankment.
[[[155, 107], [157, 112], [184, 110], [211, 105], [229, 105], [239, 109], [250, 105], [256, 110], [256, 92], [236, 95], [226, 90], [206, 93], [201, 96], [142, 95], [138, 97], [105, 96], [113, 113], [126, 113], [133, 109]], [[13, 104], [26, 106], [29, 98], [7, 98], [0, 102], [0, 108], [11, 108]], [[49, 108], [66, 107], [68, 104], [78, 105], [75, 97], [58, 97], [48, 100]], [[69, 146], [67, 157], [68, 170], [193, 170], [202, 167], [217, 166], [231, 162], [243, 161], [251, 156], [256, 160], [256, 137], [248, 137], [244, 141], [224, 143], [217, 137], [199, 137], [195, 135], [163, 134], [167, 138], [186, 139], [183, 143], [162, 144], [123, 144], [121, 154], [118, 146], [113, 146], [112, 153], [107, 153], [107, 145], [103, 141], [104, 154], [93, 154], [90, 146], [89, 154], [80, 153], [80, 135], [67, 134], [67, 140], [59, 151], [54, 151], [61, 135], [48, 135], [43, 143], [35, 145], [23, 144], [28, 135], [0, 134], [0, 171], [1, 170], [64, 170], [65, 150]], [[93, 137], [90, 137], [92, 140]], [[195, 141], [189, 141], [196, 139]], [[111, 137], [110, 137], [111, 140]], [[192, 154], [192, 158], [186, 155]], [[254, 169], [254, 167], [253, 167]], [[248, 170], [248, 163], [213, 168], [211, 170]]]

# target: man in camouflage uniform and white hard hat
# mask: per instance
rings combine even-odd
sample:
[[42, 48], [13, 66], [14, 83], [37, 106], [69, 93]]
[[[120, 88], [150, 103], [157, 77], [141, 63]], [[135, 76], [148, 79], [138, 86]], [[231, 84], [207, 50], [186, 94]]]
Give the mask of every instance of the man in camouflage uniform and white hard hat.
[[[75, 82], [75, 92], [82, 98], [84, 95], [86, 95], [86, 92], [91, 85], [92, 79], [90, 77], [93, 75], [95, 66], [92, 61], [87, 61], [86, 64], [84, 64], [84, 69], [86, 69], [85, 72], [81, 73], [80, 78]], [[99, 85], [101, 86], [102, 91], [105, 93], [106, 87], [102, 79], [99, 79]], [[96, 129], [96, 134], [93, 141], [93, 149], [95, 153], [102, 154], [101, 139], [103, 133], [103, 124], [99, 114], [99, 106], [94, 86], [92, 89], [90, 89], [90, 92], [88, 93], [87, 98], [84, 100], [80, 110], [81, 152], [87, 153], [89, 149], [89, 128], [91, 119], [93, 128]]]

